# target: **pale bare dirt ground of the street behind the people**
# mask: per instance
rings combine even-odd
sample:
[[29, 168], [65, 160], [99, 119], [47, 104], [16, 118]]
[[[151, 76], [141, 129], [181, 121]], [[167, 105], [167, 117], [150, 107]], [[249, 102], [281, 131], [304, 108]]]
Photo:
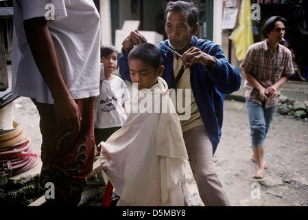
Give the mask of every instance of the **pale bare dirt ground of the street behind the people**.
[[[21, 122], [32, 139], [34, 150], [40, 153], [39, 115], [29, 98], [15, 100], [14, 118]], [[222, 139], [214, 156], [214, 166], [231, 205], [308, 206], [307, 131], [308, 122], [276, 113], [265, 140], [265, 160], [268, 163], [265, 178], [252, 179], [257, 166], [250, 159], [252, 149], [246, 105], [226, 100]], [[186, 177], [191, 206], [204, 206], [189, 164]], [[95, 191], [90, 187], [82, 205], [99, 206], [104, 189]]]

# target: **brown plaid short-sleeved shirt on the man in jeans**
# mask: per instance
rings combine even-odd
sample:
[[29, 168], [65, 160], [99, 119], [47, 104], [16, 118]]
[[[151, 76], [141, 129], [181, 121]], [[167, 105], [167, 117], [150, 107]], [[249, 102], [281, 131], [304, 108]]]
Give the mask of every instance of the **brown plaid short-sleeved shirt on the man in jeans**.
[[[241, 67], [244, 67], [248, 74], [254, 76], [265, 89], [274, 85], [281, 77], [291, 76], [294, 73], [290, 50], [279, 44], [272, 55], [266, 39], [248, 47]], [[245, 98], [263, 104], [264, 100], [261, 99], [259, 91], [252, 87], [247, 80], [244, 85], [246, 88]], [[265, 108], [278, 104], [280, 90], [278, 89], [277, 92], [278, 96], [265, 101]]]

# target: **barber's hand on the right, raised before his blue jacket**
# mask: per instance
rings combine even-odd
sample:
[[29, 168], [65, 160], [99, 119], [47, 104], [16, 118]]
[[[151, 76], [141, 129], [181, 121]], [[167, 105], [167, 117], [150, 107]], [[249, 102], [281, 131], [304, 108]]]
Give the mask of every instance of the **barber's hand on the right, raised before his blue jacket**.
[[197, 47], [191, 47], [182, 55], [182, 61], [185, 64], [184, 69], [188, 69], [194, 63], [201, 63], [204, 66], [213, 67], [215, 58], [204, 53]]

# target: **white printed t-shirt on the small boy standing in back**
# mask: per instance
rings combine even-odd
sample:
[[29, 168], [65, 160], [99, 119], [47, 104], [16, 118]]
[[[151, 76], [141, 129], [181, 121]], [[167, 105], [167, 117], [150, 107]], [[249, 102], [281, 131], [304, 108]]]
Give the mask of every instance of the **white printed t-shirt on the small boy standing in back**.
[[103, 80], [94, 123], [95, 128], [106, 129], [122, 126], [127, 118], [122, 104], [128, 100], [130, 100], [128, 88], [119, 76], [115, 76], [112, 80]]

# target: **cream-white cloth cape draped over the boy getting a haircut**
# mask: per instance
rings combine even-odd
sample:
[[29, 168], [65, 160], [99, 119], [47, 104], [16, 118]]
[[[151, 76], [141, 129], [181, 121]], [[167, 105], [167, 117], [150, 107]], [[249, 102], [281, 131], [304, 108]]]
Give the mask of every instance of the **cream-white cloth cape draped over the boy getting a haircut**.
[[180, 179], [188, 156], [168, 91], [162, 78], [139, 91], [121, 129], [101, 142], [102, 168], [128, 206], [184, 206]]

